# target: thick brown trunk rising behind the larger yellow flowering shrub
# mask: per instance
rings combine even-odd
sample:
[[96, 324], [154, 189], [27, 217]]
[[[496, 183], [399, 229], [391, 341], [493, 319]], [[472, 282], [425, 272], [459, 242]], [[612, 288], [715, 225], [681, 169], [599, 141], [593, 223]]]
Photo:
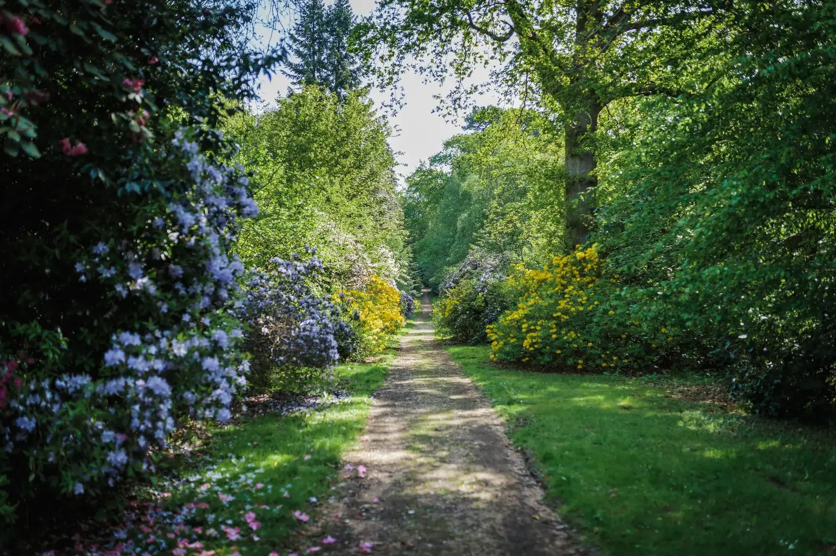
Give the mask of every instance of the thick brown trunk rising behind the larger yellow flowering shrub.
[[566, 129], [565, 163], [566, 189], [564, 196], [566, 212], [565, 243], [569, 250], [583, 245], [592, 226], [595, 208], [595, 188], [598, 179], [589, 175], [595, 169], [595, 155], [592, 150], [581, 146], [584, 136], [598, 127], [600, 108], [590, 102], [588, 111], [579, 114]]

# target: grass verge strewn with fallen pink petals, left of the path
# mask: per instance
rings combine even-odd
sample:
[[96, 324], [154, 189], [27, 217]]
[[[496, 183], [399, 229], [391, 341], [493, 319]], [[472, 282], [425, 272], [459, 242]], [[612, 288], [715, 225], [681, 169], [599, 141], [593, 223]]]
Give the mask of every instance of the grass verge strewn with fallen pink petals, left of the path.
[[335, 387], [347, 395], [327, 405], [205, 432], [202, 457], [140, 493], [110, 543], [81, 538], [77, 552], [284, 556], [319, 545], [327, 553], [326, 533], [303, 538], [301, 528], [332, 492], [342, 454], [363, 431], [371, 394], [393, 358], [388, 350], [374, 363], [338, 366]]

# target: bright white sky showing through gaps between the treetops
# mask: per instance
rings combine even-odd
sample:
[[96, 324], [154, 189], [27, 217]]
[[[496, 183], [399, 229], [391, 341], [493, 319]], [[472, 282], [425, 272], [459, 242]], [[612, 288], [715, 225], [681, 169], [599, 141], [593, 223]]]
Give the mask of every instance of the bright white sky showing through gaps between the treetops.
[[[329, 3], [329, 2], [326, 2]], [[375, 8], [374, 0], [351, 0], [351, 6], [357, 16], [365, 16]], [[487, 78], [487, 70], [482, 77]], [[284, 95], [288, 91], [288, 79], [281, 73], [273, 76], [273, 81], [267, 78], [262, 79], [261, 97], [263, 100], [272, 102], [279, 94]], [[399, 131], [395, 137], [390, 139], [390, 145], [398, 154], [400, 167], [398, 173], [410, 174], [421, 160], [430, 158], [441, 150], [441, 144], [452, 135], [461, 133], [461, 115], [455, 123], [446, 122], [440, 114], [434, 114], [436, 100], [433, 95], [445, 94], [446, 88], [442, 88], [436, 82], [424, 83], [424, 78], [416, 73], [407, 73], [402, 76], [401, 84], [404, 88], [406, 105], [399, 113], [390, 118], [390, 124]], [[372, 98], [380, 102], [381, 99], [388, 99], [388, 93], [374, 91]], [[482, 97], [477, 99], [477, 104], [497, 104], [495, 99]], [[402, 181], [402, 179], [401, 179]]]

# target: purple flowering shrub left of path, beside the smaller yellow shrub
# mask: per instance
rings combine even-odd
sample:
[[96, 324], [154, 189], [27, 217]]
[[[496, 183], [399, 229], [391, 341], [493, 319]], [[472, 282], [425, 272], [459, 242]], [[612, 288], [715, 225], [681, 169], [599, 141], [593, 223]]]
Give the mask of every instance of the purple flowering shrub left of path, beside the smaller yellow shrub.
[[[315, 250], [308, 250], [314, 252]], [[328, 370], [353, 350], [354, 332], [342, 312], [315, 290], [324, 268], [314, 256], [275, 258], [272, 270], [254, 270], [247, 282], [243, 320], [251, 326], [245, 347], [252, 380], [267, 386], [278, 370]]]

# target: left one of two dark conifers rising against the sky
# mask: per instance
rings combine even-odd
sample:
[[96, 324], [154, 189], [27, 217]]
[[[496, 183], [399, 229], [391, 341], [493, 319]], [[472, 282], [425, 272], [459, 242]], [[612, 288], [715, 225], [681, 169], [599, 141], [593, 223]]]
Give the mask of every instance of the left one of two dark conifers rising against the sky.
[[[350, 9], [350, 8], [349, 8]], [[298, 62], [288, 60], [282, 73], [296, 85], [326, 85], [329, 78], [329, 36], [323, 0], [306, 0], [302, 15], [293, 26], [288, 51]]]

